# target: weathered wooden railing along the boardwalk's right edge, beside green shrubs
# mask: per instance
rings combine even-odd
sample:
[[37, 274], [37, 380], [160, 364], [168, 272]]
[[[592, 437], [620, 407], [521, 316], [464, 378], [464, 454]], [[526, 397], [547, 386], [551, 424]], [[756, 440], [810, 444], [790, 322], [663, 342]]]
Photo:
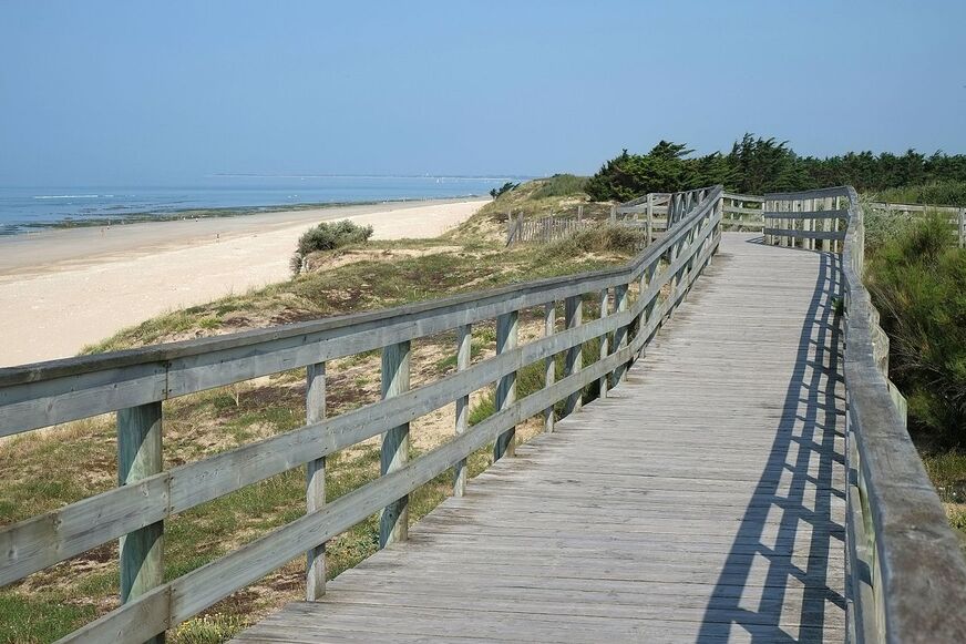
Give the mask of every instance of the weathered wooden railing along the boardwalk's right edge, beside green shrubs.
[[851, 642], [959, 642], [966, 562], [906, 431], [888, 337], [862, 285], [863, 211], [852, 187], [765, 195], [769, 243], [843, 251], [846, 612]]

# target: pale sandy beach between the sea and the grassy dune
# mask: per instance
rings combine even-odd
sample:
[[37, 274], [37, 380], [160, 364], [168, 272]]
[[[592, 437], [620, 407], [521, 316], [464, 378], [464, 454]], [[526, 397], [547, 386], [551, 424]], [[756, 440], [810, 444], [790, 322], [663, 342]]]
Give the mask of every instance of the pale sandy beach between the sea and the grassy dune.
[[289, 211], [0, 238], [0, 367], [76, 355], [158, 314], [290, 276], [310, 225], [349, 218], [377, 239], [435, 237], [486, 200]]

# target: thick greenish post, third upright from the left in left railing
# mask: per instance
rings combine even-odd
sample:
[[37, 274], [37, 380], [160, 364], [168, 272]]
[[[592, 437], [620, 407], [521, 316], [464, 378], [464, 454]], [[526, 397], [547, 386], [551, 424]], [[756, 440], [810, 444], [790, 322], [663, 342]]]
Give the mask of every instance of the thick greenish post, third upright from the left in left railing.
[[[382, 348], [382, 399], [409, 391], [409, 340]], [[409, 461], [409, 423], [393, 427], [382, 435], [380, 472], [386, 476]], [[379, 518], [379, 548], [409, 538], [409, 494], [383, 508]]]

